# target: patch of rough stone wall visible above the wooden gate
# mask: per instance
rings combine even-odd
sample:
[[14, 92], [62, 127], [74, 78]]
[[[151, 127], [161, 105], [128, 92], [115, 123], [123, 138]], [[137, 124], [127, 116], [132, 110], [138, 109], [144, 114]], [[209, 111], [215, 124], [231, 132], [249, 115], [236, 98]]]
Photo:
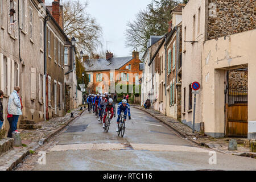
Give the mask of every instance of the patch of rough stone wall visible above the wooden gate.
[[229, 86], [248, 88], [248, 71], [232, 70], [229, 71]]

